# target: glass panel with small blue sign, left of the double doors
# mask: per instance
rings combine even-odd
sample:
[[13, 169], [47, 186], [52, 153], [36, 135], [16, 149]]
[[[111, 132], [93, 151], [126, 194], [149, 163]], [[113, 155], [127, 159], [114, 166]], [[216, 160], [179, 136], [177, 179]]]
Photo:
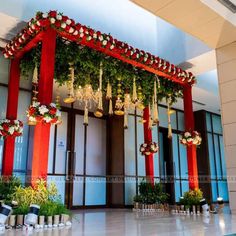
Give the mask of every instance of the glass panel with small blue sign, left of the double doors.
[[67, 150], [67, 122], [68, 114], [62, 112], [62, 124], [57, 126], [55, 173], [65, 174]]

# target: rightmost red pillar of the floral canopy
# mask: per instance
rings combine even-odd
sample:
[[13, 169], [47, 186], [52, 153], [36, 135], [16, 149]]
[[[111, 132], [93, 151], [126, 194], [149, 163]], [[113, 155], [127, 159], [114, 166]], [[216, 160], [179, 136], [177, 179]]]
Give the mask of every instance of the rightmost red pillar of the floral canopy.
[[[184, 123], [186, 131], [194, 130], [192, 87], [184, 87]], [[196, 145], [187, 146], [189, 188], [198, 188], [198, 168]]]

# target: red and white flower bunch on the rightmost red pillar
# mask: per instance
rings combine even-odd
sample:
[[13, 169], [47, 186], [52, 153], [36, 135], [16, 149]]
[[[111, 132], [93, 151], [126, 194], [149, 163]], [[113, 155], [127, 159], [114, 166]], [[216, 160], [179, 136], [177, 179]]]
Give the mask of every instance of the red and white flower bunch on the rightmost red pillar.
[[180, 136], [180, 143], [185, 146], [196, 145], [199, 146], [202, 143], [202, 138], [200, 133], [197, 131], [185, 131]]

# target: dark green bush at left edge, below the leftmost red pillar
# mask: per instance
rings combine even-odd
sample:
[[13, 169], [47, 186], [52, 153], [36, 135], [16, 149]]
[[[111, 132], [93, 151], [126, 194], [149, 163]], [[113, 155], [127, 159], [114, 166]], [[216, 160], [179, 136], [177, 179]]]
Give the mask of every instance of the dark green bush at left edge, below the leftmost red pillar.
[[3, 200], [6, 204], [11, 204], [13, 193], [19, 187], [21, 187], [19, 178], [0, 176], [0, 200]]

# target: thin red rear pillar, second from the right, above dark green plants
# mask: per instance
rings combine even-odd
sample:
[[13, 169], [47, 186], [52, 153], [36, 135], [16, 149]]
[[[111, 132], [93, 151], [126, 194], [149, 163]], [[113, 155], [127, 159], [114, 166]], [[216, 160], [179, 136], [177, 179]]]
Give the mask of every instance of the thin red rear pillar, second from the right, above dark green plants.
[[[146, 106], [143, 110], [143, 120], [146, 122], [143, 124], [144, 128], [144, 142], [152, 142], [152, 130], [149, 129], [149, 107]], [[148, 180], [154, 184], [154, 168], [153, 168], [153, 154], [145, 156], [145, 167], [146, 167], [146, 177]]]

